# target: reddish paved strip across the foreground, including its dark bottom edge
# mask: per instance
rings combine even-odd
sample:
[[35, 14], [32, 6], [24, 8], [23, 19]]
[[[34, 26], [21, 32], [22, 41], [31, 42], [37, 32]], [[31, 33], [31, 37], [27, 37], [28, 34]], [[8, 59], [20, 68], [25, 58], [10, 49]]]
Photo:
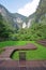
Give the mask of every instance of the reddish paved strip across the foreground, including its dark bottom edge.
[[46, 60], [1, 60], [0, 70], [46, 70]]

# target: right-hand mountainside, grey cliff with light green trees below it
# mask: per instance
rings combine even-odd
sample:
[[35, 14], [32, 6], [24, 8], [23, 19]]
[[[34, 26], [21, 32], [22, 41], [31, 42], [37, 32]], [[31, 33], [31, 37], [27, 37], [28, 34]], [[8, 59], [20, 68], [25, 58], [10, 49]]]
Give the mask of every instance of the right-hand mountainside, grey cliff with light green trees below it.
[[27, 19], [30, 27], [21, 29], [14, 37], [16, 40], [46, 39], [46, 0], [40, 0], [36, 12]]

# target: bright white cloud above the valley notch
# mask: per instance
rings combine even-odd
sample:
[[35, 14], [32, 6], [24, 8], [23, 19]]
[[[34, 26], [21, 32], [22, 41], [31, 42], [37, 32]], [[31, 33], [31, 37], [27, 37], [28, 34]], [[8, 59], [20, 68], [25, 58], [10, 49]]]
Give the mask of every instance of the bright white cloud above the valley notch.
[[40, 0], [33, 0], [32, 2], [27, 3], [22, 8], [18, 9], [18, 13], [25, 16], [29, 16], [36, 11]]

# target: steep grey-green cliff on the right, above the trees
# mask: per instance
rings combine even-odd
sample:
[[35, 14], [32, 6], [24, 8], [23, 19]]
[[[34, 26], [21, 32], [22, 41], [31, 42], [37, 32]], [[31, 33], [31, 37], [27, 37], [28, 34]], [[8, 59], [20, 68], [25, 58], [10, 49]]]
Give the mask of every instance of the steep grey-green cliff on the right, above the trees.
[[28, 17], [28, 23], [30, 24], [30, 26], [33, 20], [35, 23], [45, 24], [45, 22], [46, 22], [46, 0], [40, 0], [36, 12]]

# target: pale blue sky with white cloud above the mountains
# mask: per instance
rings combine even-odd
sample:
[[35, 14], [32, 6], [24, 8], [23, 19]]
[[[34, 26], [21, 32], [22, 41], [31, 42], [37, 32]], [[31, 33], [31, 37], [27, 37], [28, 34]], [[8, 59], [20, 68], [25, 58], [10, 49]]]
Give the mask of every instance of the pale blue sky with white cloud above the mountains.
[[40, 0], [0, 0], [11, 13], [29, 16], [36, 11]]

